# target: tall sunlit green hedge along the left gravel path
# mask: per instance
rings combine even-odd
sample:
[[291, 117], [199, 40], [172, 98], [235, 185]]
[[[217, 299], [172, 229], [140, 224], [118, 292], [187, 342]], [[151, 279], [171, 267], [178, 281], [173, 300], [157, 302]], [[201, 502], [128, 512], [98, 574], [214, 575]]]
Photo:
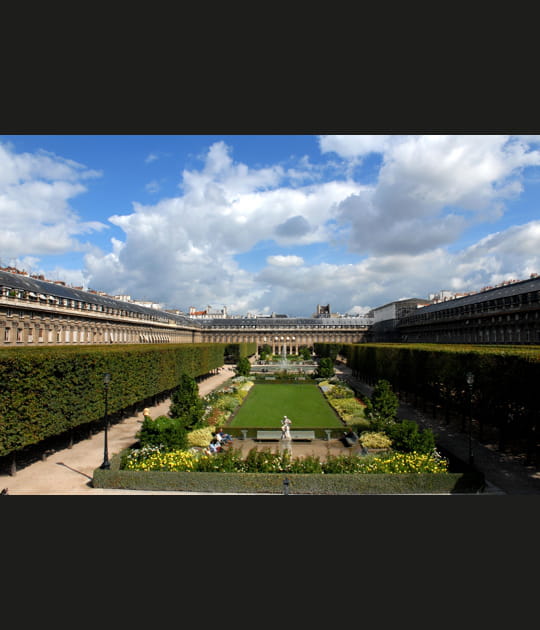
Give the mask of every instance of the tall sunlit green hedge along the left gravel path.
[[0, 350], [0, 456], [173, 390], [223, 365], [225, 344]]

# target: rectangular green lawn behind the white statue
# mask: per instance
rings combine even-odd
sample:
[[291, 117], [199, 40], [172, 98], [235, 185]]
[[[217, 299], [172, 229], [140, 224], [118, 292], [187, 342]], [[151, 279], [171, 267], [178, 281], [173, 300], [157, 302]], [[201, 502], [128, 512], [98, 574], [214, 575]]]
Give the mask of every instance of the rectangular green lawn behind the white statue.
[[230, 426], [279, 429], [284, 415], [291, 429], [343, 426], [316, 385], [280, 383], [254, 385]]

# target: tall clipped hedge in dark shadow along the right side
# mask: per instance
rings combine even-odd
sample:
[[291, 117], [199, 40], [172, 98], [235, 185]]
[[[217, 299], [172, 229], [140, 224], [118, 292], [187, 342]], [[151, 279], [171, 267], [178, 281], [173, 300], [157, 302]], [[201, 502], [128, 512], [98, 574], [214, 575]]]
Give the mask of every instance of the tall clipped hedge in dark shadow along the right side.
[[[341, 354], [365, 382], [386, 379], [395, 391], [419, 397], [444, 413], [466, 418], [471, 411], [480, 431], [487, 426], [498, 430], [499, 446], [506, 440], [520, 442], [530, 457], [537, 457], [540, 348], [345, 344]], [[474, 374], [471, 391], [467, 372]]]

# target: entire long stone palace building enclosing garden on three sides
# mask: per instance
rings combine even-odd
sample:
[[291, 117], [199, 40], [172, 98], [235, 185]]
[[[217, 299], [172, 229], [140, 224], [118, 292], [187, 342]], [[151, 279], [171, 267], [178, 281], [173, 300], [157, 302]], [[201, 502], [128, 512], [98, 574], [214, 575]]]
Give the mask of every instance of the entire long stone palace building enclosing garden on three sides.
[[[256, 343], [297, 354], [314, 343], [540, 344], [540, 277], [438, 303], [411, 298], [366, 317], [194, 318], [0, 270], [0, 346]], [[328, 305], [328, 311], [329, 311]]]

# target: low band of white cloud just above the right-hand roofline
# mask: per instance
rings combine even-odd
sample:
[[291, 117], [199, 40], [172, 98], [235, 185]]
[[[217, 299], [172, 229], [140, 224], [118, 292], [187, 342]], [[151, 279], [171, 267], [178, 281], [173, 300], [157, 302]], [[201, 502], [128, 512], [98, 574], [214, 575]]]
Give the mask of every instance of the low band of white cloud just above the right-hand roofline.
[[256, 275], [266, 292], [255, 306], [302, 315], [330, 303], [333, 312], [365, 314], [398, 299], [427, 299], [443, 289], [478, 291], [533, 272], [540, 273], [540, 221], [493, 233], [455, 253], [437, 248], [377, 255], [357, 264], [291, 266], [286, 274], [270, 265]]

